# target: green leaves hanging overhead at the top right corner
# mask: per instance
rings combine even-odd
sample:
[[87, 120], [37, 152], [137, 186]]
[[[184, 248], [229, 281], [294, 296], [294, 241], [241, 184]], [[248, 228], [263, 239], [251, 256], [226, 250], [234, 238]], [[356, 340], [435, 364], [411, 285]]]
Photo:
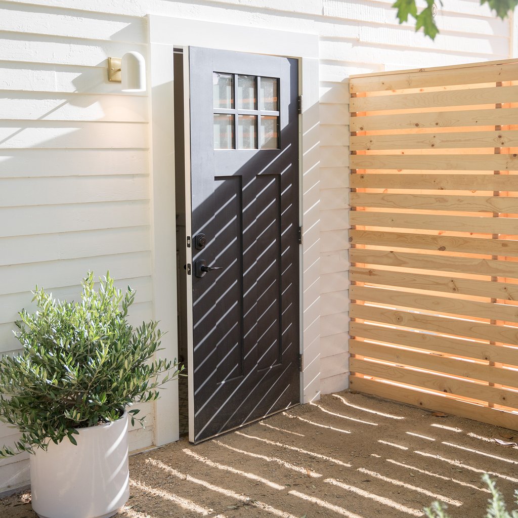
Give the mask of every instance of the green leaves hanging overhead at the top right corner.
[[[408, 21], [409, 15], [415, 18], [415, 30], [419, 31], [423, 27], [423, 32], [431, 39], [435, 39], [439, 29], [435, 23], [433, 14], [434, 0], [426, 0], [426, 7], [418, 14], [416, 0], [396, 0], [392, 7], [397, 9], [397, 19], [399, 23]], [[487, 3], [502, 20], [511, 13], [518, 0], [480, 0], [480, 5]], [[440, 2], [442, 6], [442, 2]]]

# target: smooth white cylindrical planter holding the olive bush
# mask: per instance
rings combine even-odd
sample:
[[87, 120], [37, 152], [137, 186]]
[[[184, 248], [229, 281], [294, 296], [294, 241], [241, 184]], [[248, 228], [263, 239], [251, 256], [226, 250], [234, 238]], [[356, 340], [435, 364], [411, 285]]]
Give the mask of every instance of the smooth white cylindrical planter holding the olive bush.
[[41, 518], [108, 518], [130, 497], [127, 413], [112, 423], [79, 429], [31, 459], [33, 510]]

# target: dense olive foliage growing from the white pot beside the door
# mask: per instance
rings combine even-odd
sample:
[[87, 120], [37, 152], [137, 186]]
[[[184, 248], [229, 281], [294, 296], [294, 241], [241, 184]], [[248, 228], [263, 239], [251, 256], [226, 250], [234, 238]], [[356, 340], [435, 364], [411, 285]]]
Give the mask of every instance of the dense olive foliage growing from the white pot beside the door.
[[[76, 444], [78, 428], [120, 418], [126, 406], [159, 397], [157, 389], [182, 367], [155, 358], [162, 333], [156, 322], [134, 328], [126, 321], [135, 292], [123, 294], [109, 272], [94, 289], [94, 274], [82, 281], [81, 301], [56, 301], [43, 289], [33, 292], [38, 310], [22, 310], [16, 337], [20, 355], [0, 358], [0, 420], [22, 433], [15, 449], [0, 457], [47, 449], [49, 440], [68, 437]], [[138, 410], [132, 424], [143, 426]]]

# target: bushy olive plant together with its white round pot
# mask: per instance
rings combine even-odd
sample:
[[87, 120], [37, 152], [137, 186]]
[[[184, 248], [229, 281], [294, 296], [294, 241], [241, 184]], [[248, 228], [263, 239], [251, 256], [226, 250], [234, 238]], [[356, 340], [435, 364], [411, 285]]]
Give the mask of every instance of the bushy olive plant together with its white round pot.
[[0, 420], [21, 438], [0, 456], [31, 453], [34, 511], [42, 518], [107, 518], [129, 497], [131, 405], [159, 397], [178, 375], [175, 361], [155, 357], [156, 322], [127, 322], [135, 292], [116, 289], [109, 273], [96, 290], [90, 272], [81, 300], [33, 292], [37, 311], [22, 310], [19, 355], [0, 359]]

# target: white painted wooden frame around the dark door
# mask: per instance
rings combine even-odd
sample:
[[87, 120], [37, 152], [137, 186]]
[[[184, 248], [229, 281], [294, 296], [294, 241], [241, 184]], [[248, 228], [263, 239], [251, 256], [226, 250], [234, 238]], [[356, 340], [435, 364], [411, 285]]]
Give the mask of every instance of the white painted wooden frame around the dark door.
[[[165, 357], [178, 356], [176, 301], [176, 212], [174, 160], [174, 47], [281, 55], [299, 60], [302, 114], [299, 129], [300, 222], [300, 401], [320, 398], [320, 175], [319, 38], [223, 23], [148, 15], [151, 113], [152, 250], [155, 319], [168, 333]], [[187, 133], [188, 135], [188, 133]], [[188, 156], [186, 156], [187, 158]], [[188, 163], [186, 162], [186, 166]], [[190, 176], [190, 173], [189, 173]], [[190, 182], [189, 182], [190, 183]], [[189, 261], [189, 258], [188, 258]], [[188, 286], [189, 292], [189, 286]], [[192, 411], [192, 409], [189, 409]], [[178, 384], [155, 402], [155, 444], [178, 440]]]

